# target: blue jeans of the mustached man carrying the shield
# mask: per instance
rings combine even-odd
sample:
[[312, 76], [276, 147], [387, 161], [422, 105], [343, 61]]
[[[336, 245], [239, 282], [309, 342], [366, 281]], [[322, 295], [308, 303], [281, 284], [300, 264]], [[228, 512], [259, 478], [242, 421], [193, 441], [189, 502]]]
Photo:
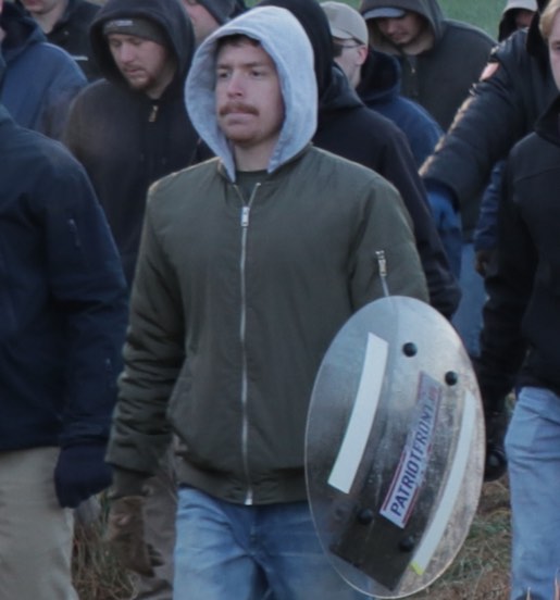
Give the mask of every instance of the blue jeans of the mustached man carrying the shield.
[[307, 502], [245, 507], [181, 488], [174, 600], [358, 600], [331, 566]]

